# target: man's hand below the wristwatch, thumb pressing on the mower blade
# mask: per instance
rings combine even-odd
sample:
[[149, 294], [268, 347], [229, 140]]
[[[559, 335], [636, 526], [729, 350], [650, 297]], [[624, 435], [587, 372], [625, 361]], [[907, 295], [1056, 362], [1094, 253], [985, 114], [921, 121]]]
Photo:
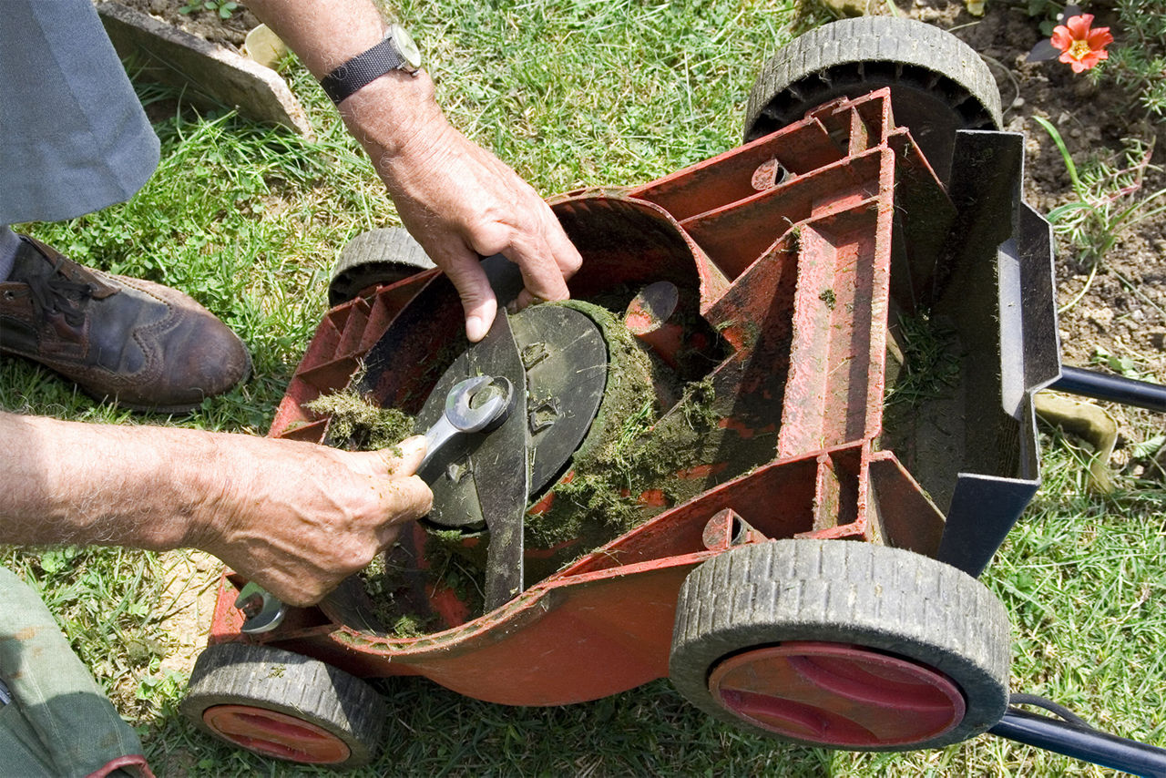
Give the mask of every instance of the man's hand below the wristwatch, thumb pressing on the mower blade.
[[344, 100], [340, 115], [401, 222], [457, 287], [470, 341], [485, 336], [498, 310], [482, 257], [519, 266], [520, 307], [570, 296], [567, 280], [583, 260], [559, 219], [517, 173], [450, 126], [428, 76], [384, 76]]

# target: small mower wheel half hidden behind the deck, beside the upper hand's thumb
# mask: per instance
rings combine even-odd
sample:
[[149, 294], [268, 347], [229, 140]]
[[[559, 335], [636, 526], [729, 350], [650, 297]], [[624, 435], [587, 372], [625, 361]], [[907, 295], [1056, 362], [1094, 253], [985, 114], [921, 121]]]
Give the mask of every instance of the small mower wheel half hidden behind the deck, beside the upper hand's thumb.
[[328, 304], [338, 306], [375, 286], [395, 283], [436, 267], [405, 227], [361, 232], [345, 244], [328, 285]]

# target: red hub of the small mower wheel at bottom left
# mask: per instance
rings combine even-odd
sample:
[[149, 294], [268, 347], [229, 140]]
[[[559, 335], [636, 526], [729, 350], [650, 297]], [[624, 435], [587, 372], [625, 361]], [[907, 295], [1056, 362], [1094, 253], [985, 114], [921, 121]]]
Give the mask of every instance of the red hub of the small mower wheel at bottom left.
[[219, 736], [245, 749], [304, 764], [336, 764], [352, 754], [347, 743], [322, 727], [247, 705], [218, 705], [203, 721]]

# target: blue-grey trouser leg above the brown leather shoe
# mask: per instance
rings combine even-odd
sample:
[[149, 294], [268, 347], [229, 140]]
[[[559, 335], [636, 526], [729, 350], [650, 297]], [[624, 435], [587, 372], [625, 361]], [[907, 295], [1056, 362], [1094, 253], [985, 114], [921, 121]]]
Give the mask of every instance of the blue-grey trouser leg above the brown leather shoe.
[[157, 159], [92, 0], [0, 1], [0, 224], [128, 199]]

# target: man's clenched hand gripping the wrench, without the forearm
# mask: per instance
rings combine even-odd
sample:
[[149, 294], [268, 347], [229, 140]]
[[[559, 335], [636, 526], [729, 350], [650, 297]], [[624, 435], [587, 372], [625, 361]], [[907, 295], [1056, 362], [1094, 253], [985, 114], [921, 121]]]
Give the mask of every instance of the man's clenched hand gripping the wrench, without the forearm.
[[318, 602], [429, 512], [424, 439], [379, 451], [253, 439], [195, 545], [292, 605]]

